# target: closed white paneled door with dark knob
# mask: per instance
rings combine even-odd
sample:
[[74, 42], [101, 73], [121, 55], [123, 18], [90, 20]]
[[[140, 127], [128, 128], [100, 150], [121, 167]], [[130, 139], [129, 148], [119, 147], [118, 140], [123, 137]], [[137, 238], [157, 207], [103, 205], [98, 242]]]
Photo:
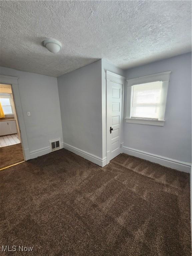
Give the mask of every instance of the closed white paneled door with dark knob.
[[123, 84], [120, 76], [107, 79], [107, 162], [121, 153]]

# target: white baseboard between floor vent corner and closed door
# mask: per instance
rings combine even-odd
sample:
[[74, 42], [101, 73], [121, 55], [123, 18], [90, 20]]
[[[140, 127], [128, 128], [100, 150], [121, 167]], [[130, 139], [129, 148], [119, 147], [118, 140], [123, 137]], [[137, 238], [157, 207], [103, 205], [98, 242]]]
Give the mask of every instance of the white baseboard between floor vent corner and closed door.
[[76, 148], [76, 147], [74, 147], [72, 145], [69, 145], [67, 143], [63, 143], [63, 147], [65, 149], [75, 153], [76, 155], [81, 156], [81, 157], [91, 161], [92, 163], [101, 166], [101, 167], [103, 167], [107, 164], [107, 157], [104, 157], [104, 158], [98, 157], [96, 155], [93, 155], [89, 152], [86, 152], [86, 151], [84, 151], [80, 148]]

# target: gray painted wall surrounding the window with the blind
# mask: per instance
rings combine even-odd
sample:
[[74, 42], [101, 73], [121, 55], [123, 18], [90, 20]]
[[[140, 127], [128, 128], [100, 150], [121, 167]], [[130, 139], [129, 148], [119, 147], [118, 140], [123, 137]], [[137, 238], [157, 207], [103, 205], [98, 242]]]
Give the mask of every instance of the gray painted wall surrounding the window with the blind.
[[191, 53], [128, 69], [126, 77], [169, 70], [172, 72], [165, 125], [131, 124], [124, 120], [124, 146], [191, 163]]

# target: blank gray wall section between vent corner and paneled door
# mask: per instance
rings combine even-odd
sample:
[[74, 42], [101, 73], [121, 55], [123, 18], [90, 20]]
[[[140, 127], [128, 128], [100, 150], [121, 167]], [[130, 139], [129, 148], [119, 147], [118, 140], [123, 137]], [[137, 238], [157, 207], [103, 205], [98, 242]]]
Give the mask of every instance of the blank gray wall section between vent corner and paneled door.
[[101, 60], [57, 81], [64, 143], [102, 157]]

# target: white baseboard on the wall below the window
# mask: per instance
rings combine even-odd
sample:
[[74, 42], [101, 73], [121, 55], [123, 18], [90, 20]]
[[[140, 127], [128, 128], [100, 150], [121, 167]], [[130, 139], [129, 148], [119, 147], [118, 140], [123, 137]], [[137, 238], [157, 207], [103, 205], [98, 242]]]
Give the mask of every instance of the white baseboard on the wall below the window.
[[142, 158], [150, 162], [157, 163], [172, 169], [176, 169], [178, 171], [187, 172], [187, 173], [191, 172], [191, 163], [186, 163], [186, 162], [178, 161], [172, 158], [155, 155], [152, 153], [148, 153], [148, 152], [141, 151], [134, 148], [129, 148], [126, 146], [123, 147], [123, 153], [131, 156], [136, 156], [136, 157], [139, 157], [139, 158]]

